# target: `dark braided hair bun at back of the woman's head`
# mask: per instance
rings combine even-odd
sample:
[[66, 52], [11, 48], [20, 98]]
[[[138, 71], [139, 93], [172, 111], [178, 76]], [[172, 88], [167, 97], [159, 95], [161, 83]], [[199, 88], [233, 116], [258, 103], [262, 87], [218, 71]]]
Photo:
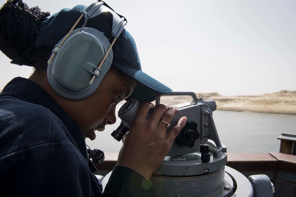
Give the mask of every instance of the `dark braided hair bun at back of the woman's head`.
[[49, 15], [49, 12], [41, 12], [38, 6], [29, 8], [22, 0], [8, 0], [1, 7], [0, 50], [12, 59], [12, 64], [27, 62], [25, 65], [35, 67], [36, 53], [39, 53], [35, 40], [41, 23]]

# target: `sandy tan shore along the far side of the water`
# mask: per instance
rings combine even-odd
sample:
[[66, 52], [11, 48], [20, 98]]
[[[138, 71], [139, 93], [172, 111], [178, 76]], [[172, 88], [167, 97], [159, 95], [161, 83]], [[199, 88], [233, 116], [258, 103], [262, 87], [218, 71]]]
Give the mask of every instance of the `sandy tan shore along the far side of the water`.
[[[251, 111], [261, 113], [281, 113], [296, 115], [296, 91], [282, 90], [273, 94], [260, 96], [221, 96], [216, 93], [196, 93], [197, 97], [204, 100], [213, 99], [217, 110]], [[174, 96], [161, 97], [161, 103], [175, 105], [190, 102], [191, 97]]]

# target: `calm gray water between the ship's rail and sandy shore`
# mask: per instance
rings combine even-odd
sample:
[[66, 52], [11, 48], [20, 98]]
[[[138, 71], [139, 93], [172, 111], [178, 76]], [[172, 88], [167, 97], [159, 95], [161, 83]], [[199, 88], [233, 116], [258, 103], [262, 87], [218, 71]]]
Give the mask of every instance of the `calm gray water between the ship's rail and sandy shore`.
[[[216, 110], [213, 118], [227, 152], [279, 152], [280, 140], [276, 138], [281, 133], [296, 134], [296, 115]], [[96, 131], [94, 141], [86, 139], [86, 144], [104, 152], [119, 152], [122, 142], [110, 135], [119, 124], [118, 118], [114, 125], [106, 125], [105, 131]]]

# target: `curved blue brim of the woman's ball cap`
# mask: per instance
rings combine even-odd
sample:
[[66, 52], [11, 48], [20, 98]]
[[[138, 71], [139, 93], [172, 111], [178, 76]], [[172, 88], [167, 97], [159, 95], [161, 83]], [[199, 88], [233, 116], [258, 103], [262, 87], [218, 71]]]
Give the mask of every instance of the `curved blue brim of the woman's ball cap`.
[[139, 102], [152, 102], [158, 93], [166, 95], [172, 92], [172, 89], [141, 70], [133, 69], [114, 61], [112, 65], [138, 82], [133, 93], [126, 100], [137, 99]]

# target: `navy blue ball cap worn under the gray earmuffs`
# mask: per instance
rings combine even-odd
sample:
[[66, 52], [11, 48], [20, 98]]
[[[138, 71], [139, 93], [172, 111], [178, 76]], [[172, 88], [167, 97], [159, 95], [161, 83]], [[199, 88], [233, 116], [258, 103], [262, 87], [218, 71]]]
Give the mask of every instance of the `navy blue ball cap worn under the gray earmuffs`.
[[[75, 6], [72, 9], [62, 9], [46, 19], [39, 29], [36, 48], [40, 46], [54, 48], [54, 45], [70, 31], [85, 9], [86, 6], [83, 5]], [[84, 20], [81, 20], [76, 28], [80, 28], [83, 22]], [[86, 27], [99, 30], [110, 43], [114, 40], [112, 37], [112, 19], [108, 17], [108, 14], [101, 14], [89, 19]], [[137, 82], [136, 88], [127, 100], [134, 98], [139, 102], [151, 102], [155, 100], [157, 93], [169, 94], [172, 92], [170, 88], [142, 71], [136, 43], [125, 29], [115, 41], [112, 51], [112, 65]]]

